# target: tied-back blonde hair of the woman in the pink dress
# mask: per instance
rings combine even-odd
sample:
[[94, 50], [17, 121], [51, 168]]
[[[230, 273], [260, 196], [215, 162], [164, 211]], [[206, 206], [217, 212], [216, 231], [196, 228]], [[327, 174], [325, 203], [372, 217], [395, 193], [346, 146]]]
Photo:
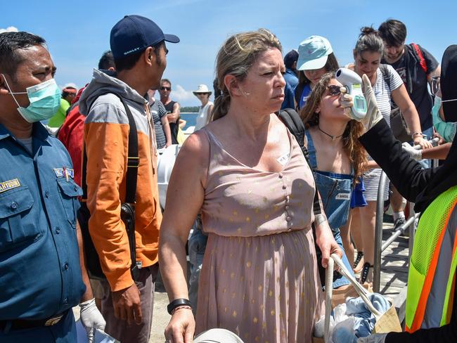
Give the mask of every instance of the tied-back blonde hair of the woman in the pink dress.
[[217, 85], [222, 95], [214, 101], [212, 120], [224, 117], [230, 108], [231, 98], [224, 84], [224, 77], [233, 75], [239, 81], [243, 81], [259, 54], [271, 48], [282, 51], [278, 38], [266, 29], [234, 34], [224, 42], [216, 60]]

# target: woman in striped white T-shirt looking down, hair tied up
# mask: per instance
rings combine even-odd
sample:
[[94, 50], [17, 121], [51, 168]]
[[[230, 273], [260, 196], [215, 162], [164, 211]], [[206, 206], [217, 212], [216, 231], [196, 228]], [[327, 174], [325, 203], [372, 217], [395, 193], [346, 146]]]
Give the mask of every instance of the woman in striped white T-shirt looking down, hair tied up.
[[[363, 27], [354, 48], [354, 65], [349, 65], [349, 68], [360, 76], [366, 74], [370, 79], [378, 107], [387, 124], [390, 124], [391, 104], [394, 102], [403, 113], [411, 132], [416, 133], [412, 136], [413, 143], [420, 145], [422, 148], [431, 148], [432, 145], [420, 134], [419, 115], [408, 96], [401, 77], [390, 65], [383, 66], [383, 70], [380, 67], [383, 48], [384, 44], [378, 32], [373, 27]], [[368, 171], [363, 174], [363, 183], [366, 188], [365, 197], [368, 205], [352, 210], [352, 225], [347, 232], [342, 232], [345, 247], [351, 244], [350, 231], [359, 230], [361, 234], [363, 259], [365, 261], [361, 270], [361, 283], [371, 282], [373, 276], [376, 200], [382, 172], [369, 156], [366, 169]], [[388, 190], [389, 184], [386, 183], [383, 190], [384, 201], [388, 198]], [[399, 202], [401, 204], [401, 198]], [[394, 212], [396, 212], [395, 210]], [[397, 209], [397, 211], [400, 212], [401, 209]], [[359, 247], [358, 250], [360, 250]]]

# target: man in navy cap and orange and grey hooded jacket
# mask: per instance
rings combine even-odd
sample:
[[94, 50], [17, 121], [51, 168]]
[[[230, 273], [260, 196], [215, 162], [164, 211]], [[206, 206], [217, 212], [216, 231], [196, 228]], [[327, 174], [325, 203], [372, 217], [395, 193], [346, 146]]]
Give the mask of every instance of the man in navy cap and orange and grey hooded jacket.
[[[144, 96], [149, 89], [160, 86], [167, 66], [165, 41], [177, 43], [179, 38], [164, 34], [148, 18], [125, 16], [110, 34], [116, 72], [95, 69], [91, 83], [79, 98], [79, 112], [86, 116], [84, 149], [90, 166], [82, 180], [86, 181], [90, 220], [83, 222], [82, 228], [89, 231], [97, 252], [89, 256], [87, 250], [86, 255], [98, 259], [106, 278], [101, 280], [105, 332], [127, 343], [148, 343], [152, 321], [162, 213], [154, 125]], [[130, 138], [130, 133], [136, 135], [136, 140]], [[134, 141], [139, 158], [131, 166], [127, 154]], [[121, 216], [127, 179], [131, 180], [127, 170], [136, 174], [135, 212], [130, 218], [130, 222], [134, 218], [135, 240], [131, 241]], [[135, 244], [134, 256], [130, 244]], [[96, 271], [89, 268], [89, 272], [96, 276]]]

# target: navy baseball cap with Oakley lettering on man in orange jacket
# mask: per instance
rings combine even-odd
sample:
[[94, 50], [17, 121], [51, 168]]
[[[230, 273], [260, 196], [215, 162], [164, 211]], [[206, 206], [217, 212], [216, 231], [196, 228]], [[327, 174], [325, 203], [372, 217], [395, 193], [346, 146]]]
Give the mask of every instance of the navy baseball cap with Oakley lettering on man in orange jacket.
[[126, 15], [111, 29], [110, 46], [115, 60], [139, 53], [161, 41], [178, 43], [174, 34], [164, 34], [153, 20], [141, 15]]

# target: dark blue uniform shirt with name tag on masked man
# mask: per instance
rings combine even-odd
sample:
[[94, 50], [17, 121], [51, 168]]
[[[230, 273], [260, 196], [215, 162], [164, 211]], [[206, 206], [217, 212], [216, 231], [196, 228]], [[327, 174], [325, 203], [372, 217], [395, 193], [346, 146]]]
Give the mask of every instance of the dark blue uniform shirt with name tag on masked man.
[[70, 157], [40, 123], [32, 145], [31, 155], [0, 124], [0, 321], [54, 316], [85, 290]]

